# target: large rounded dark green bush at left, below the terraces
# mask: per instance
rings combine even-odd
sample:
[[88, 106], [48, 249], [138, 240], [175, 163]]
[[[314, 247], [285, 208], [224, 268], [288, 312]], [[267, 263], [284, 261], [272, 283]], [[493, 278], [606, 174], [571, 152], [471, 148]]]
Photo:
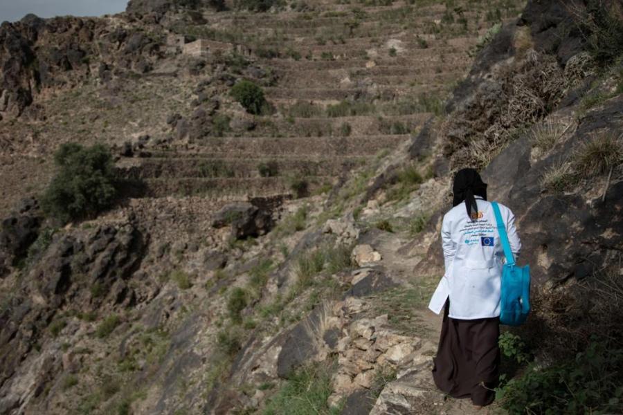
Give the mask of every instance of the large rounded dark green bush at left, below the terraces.
[[42, 197], [42, 207], [62, 221], [93, 216], [117, 196], [112, 155], [104, 145], [62, 144], [54, 154], [58, 172]]

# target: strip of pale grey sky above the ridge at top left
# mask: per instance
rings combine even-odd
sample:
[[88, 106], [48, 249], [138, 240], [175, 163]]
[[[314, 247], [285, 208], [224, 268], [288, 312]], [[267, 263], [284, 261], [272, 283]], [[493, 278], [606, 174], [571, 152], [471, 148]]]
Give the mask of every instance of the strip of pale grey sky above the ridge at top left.
[[0, 22], [16, 21], [35, 13], [39, 17], [100, 16], [123, 12], [127, 0], [0, 0]]

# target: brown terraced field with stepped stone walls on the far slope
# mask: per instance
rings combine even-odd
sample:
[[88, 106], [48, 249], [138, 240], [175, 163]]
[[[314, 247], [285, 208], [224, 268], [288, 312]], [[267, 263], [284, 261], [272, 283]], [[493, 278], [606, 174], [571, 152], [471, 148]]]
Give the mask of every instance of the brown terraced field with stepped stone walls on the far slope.
[[443, 113], [448, 91], [471, 64], [467, 51], [496, 23], [491, 15], [515, 11], [502, 1], [390, 3], [206, 15], [205, 37], [246, 42], [276, 75], [264, 88], [275, 111], [256, 116], [258, 127], [242, 136], [226, 132], [200, 148], [172, 145], [122, 159], [120, 167], [151, 198], [304, 197], [410, 140]]

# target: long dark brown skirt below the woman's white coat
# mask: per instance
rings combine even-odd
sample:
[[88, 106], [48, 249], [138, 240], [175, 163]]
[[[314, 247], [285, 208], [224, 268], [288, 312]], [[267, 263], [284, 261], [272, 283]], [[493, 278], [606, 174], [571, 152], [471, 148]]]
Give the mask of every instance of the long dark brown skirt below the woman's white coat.
[[498, 386], [500, 319], [458, 320], [448, 317], [449, 300], [437, 356], [433, 358], [433, 379], [439, 389], [453, 398], [471, 398], [473, 405], [489, 405]]

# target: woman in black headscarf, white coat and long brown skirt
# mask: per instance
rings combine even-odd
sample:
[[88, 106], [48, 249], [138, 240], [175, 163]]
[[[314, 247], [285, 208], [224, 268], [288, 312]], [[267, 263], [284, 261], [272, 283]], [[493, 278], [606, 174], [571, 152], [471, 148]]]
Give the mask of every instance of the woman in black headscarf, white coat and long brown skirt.
[[[445, 273], [428, 308], [444, 308], [433, 378], [454, 398], [471, 398], [477, 408], [495, 398], [500, 349], [500, 286], [504, 251], [487, 185], [474, 169], [457, 172], [453, 208], [444, 216]], [[499, 205], [499, 204], [498, 204]], [[509, 208], [499, 205], [512, 252], [521, 248]]]

